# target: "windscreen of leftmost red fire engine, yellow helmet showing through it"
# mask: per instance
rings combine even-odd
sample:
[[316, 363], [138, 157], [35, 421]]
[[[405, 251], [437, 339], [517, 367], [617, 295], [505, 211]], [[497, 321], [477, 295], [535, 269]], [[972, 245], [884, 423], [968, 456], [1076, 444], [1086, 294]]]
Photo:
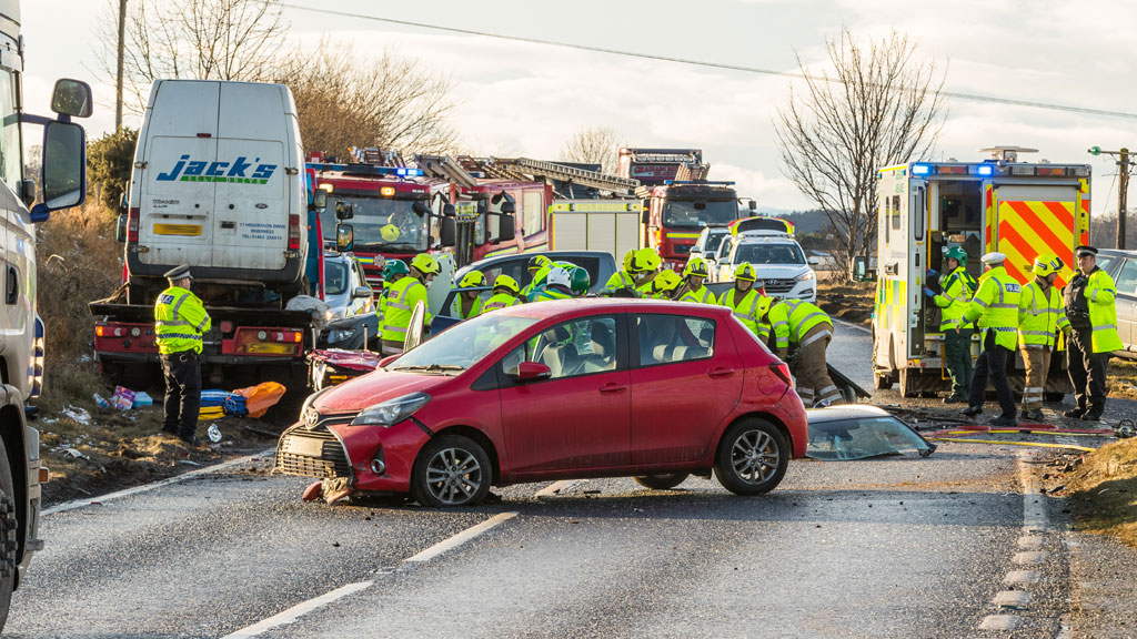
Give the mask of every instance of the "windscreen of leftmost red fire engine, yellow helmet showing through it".
[[412, 210], [414, 200], [391, 200], [355, 196], [327, 196], [327, 207], [319, 214], [324, 242], [335, 242], [335, 205], [355, 205], [355, 215], [345, 219], [355, 233], [356, 250], [422, 251], [426, 250], [430, 234], [426, 216]]

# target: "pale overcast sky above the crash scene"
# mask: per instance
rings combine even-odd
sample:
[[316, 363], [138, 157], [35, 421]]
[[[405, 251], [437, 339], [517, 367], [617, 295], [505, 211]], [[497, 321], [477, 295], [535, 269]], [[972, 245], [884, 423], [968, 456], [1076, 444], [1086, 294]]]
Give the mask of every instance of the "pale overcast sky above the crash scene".
[[[111, 0], [25, 0], [25, 96], [45, 111], [51, 83], [88, 80], [100, 105], [114, 100], [100, 77], [96, 23]], [[131, 0], [135, 1], [135, 0]], [[947, 65], [946, 89], [1137, 114], [1134, 53], [1137, 2], [1032, 0], [941, 3], [875, 0], [289, 0], [337, 9], [572, 42], [607, 49], [795, 72], [799, 55], [824, 63], [825, 39], [843, 25], [863, 38], [893, 28], [920, 55]], [[117, 2], [116, 2], [117, 3]], [[611, 126], [630, 146], [698, 147], [711, 177], [735, 180], [763, 206], [810, 208], [778, 168], [771, 118], [789, 78], [653, 61], [599, 52], [442, 33], [285, 9], [298, 45], [323, 34], [359, 53], [390, 48], [456, 83], [455, 127], [463, 148], [482, 155], [555, 159], [573, 132]], [[1137, 148], [1137, 119], [949, 100], [937, 159], [978, 160], [996, 144], [1032, 147], [1030, 156], [1093, 166], [1094, 213], [1117, 210], [1115, 166], [1092, 146]], [[138, 125], [138, 122], [128, 122]], [[92, 135], [114, 127], [113, 108], [86, 122]]]

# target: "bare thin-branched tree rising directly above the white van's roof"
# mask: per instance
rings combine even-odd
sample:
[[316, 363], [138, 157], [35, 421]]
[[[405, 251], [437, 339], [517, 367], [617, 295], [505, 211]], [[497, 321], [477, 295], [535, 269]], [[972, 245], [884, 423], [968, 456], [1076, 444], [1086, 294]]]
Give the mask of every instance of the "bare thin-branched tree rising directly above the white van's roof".
[[[99, 22], [101, 66], [117, 67], [118, 13]], [[288, 36], [281, 0], [132, 0], [125, 25], [125, 108], [141, 113], [158, 78], [279, 77]]]

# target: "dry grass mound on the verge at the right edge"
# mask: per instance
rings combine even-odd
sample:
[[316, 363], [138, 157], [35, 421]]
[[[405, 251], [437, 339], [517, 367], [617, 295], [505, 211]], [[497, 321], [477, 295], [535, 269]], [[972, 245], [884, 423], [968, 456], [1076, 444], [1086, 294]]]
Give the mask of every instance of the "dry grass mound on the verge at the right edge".
[[1103, 446], [1085, 456], [1067, 490], [1074, 525], [1111, 534], [1137, 548], [1137, 439]]

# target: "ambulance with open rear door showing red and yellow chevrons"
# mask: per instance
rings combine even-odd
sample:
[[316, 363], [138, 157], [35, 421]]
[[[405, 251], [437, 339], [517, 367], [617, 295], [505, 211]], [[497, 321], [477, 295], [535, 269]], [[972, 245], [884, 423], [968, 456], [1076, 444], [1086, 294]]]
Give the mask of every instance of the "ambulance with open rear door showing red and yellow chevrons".
[[[1076, 266], [1073, 249], [1089, 242], [1090, 167], [1085, 164], [1029, 163], [1020, 153], [1035, 149], [998, 147], [984, 161], [911, 161], [877, 173], [877, 292], [873, 333], [873, 379], [877, 389], [899, 385], [904, 397], [949, 390], [944, 365], [940, 309], [923, 288], [938, 285], [944, 251], [963, 247], [968, 272], [982, 274], [979, 258], [1006, 255], [1006, 272], [1022, 283], [1026, 267], [1040, 252], [1053, 252], [1067, 268], [1062, 287]], [[854, 280], [864, 279], [868, 259], [854, 259]], [[936, 272], [936, 273], [932, 273]], [[979, 335], [972, 355], [979, 354]], [[1063, 358], [1053, 358], [1052, 373]], [[1022, 388], [1016, 357], [1012, 388]], [[1069, 381], [1047, 380], [1047, 400], [1061, 399]]]

